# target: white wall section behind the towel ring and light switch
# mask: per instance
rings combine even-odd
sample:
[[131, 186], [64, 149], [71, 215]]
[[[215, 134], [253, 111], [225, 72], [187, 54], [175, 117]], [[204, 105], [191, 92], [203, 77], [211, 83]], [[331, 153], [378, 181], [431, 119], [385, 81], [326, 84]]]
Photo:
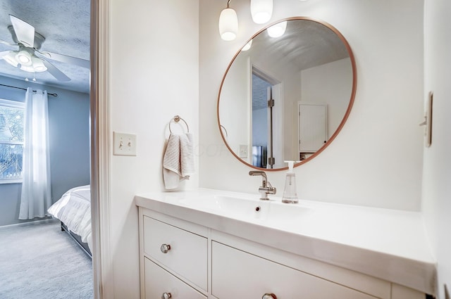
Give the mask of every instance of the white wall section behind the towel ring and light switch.
[[[112, 141], [113, 132], [137, 134], [137, 156], [111, 155], [109, 246], [115, 298], [139, 298], [133, 196], [163, 189], [163, 146], [174, 115], [186, 120], [197, 143], [199, 6], [186, 0], [115, 0], [110, 8], [110, 136]], [[185, 188], [198, 186], [198, 173]]]

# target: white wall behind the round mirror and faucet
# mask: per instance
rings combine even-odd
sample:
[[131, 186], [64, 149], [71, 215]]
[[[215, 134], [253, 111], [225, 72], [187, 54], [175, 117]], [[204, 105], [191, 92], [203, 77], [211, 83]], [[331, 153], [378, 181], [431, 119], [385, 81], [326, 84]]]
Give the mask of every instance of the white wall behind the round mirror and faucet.
[[[248, 1], [231, 2], [240, 30], [218, 34], [225, 2], [200, 0], [199, 142], [201, 186], [258, 195], [249, 167], [223, 146], [216, 97], [228, 63], [264, 25], [250, 20]], [[423, 136], [423, 1], [278, 0], [271, 22], [291, 16], [325, 20], [347, 39], [357, 62], [357, 95], [342, 132], [326, 151], [297, 167], [298, 195], [318, 201], [419, 210]], [[402, 21], [400, 21], [402, 20]], [[268, 173], [282, 188], [283, 172]]]

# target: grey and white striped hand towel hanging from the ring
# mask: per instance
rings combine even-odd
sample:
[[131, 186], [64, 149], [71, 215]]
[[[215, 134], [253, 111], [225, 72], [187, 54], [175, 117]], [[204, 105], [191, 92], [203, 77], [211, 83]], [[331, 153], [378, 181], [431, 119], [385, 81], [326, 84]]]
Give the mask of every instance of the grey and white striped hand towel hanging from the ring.
[[192, 134], [171, 134], [163, 158], [163, 179], [166, 189], [175, 189], [183, 179], [194, 173]]

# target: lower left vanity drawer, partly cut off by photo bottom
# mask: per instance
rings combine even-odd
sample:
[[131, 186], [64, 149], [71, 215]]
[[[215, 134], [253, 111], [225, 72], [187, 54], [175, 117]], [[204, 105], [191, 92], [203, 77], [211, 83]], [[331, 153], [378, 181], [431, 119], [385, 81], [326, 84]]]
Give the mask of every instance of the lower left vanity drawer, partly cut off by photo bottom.
[[160, 299], [163, 293], [171, 293], [173, 299], [206, 299], [202, 293], [147, 258], [144, 258], [144, 267], [146, 299]]

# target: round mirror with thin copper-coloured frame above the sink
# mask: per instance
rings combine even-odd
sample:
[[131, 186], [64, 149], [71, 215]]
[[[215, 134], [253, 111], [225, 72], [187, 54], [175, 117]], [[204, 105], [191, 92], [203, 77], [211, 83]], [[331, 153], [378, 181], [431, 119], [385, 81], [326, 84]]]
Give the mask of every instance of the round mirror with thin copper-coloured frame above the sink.
[[289, 18], [257, 32], [228, 65], [218, 95], [226, 146], [250, 167], [306, 163], [337, 136], [357, 86], [345, 37], [311, 18]]

